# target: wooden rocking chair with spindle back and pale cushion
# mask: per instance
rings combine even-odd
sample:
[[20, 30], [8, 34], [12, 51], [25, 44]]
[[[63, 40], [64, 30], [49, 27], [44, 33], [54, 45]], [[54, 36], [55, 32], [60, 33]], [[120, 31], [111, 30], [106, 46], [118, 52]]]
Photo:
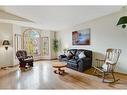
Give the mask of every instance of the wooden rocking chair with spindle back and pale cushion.
[[[103, 82], [105, 83], [114, 83], [119, 79], [116, 79], [114, 76], [114, 69], [118, 62], [121, 50], [120, 49], [107, 49], [105, 60], [96, 59], [96, 66], [94, 66], [94, 73], [100, 74], [103, 77]], [[105, 76], [111, 74], [113, 81], [105, 81]]]

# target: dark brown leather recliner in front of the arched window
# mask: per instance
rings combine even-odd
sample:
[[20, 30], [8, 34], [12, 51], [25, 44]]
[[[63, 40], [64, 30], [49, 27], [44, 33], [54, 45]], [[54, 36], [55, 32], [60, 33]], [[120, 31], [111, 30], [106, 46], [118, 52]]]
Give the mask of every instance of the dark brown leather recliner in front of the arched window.
[[27, 56], [25, 50], [19, 50], [16, 52], [16, 56], [19, 60], [20, 67], [33, 67], [33, 56]]

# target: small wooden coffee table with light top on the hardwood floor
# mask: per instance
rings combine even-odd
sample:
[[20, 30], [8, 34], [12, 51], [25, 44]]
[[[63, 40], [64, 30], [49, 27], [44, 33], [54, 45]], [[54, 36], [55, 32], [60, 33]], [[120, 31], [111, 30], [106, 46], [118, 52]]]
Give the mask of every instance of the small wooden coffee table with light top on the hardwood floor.
[[53, 62], [52, 65], [54, 68], [56, 68], [56, 70], [54, 70], [54, 73], [59, 74], [59, 75], [64, 74], [65, 70], [62, 68], [67, 66], [67, 64], [64, 62]]

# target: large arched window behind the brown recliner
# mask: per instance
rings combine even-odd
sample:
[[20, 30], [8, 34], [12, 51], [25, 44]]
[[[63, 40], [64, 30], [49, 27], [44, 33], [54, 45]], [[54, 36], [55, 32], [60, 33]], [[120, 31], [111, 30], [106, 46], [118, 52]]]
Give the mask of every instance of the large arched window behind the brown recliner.
[[28, 29], [23, 33], [23, 48], [27, 51], [29, 55], [41, 55], [40, 34], [38, 31]]

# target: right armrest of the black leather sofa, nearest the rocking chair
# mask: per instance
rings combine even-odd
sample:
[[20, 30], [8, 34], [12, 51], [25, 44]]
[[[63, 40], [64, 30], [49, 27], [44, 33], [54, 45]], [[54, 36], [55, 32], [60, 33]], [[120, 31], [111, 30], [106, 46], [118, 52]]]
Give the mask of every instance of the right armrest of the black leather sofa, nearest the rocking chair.
[[83, 72], [84, 70], [92, 67], [92, 60], [91, 58], [81, 58], [77, 61], [78, 64], [78, 71]]

